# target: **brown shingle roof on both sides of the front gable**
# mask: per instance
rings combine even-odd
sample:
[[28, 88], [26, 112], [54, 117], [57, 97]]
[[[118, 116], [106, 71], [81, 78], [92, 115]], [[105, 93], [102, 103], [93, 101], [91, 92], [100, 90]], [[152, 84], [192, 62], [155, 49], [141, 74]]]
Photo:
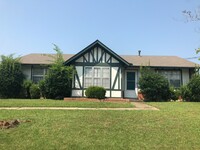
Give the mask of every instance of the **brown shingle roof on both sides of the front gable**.
[[[22, 64], [51, 64], [55, 54], [29, 54], [21, 57]], [[63, 54], [64, 60], [70, 59], [73, 54]], [[133, 66], [152, 66], [152, 67], [186, 67], [194, 68], [195, 63], [177, 56], [136, 56], [120, 55], [124, 60]]]

